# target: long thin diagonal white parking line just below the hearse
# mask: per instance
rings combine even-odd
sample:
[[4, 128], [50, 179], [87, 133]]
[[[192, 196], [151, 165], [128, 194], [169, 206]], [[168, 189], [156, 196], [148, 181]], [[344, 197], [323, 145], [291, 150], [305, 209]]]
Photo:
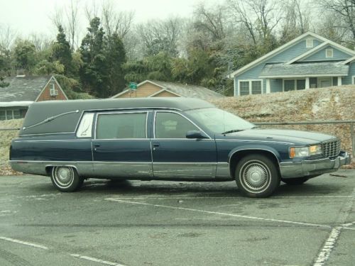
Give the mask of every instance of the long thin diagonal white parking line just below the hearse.
[[190, 209], [190, 208], [184, 208], [184, 207], [175, 207], [175, 206], [160, 205], [160, 204], [148, 204], [148, 203], [137, 202], [137, 201], [124, 201], [124, 200], [115, 199], [115, 198], [107, 198], [105, 200], [116, 201], [116, 202], [121, 202], [121, 203], [126, 203], [126, 204], [138, 204], [138, 205], [154, 206], [154, 207], [167, 208], [167, 209], [177, 209], [177, 210], [183, 210], [183, 211], [195, 211], [195, 212], [200, 212], [200, 213], [204, 213], [204, 214], [217, 214], [217, 215], [222, 215], [222, 216], [247, 218], [247, 219], [252, 219], [252, 220], [260, 220], [260, 221], [290, 223], [290, 224], [297, 224], [300, 226], [315, 226], [315, 227], [322, 227], [322, 228], [331, 228], [331, 226], [327, 226], [324, 224], [318, 224], [318, 223], [303, 223], [303, 222], [297, 222], [297, 221], [278, 220], [278, 219], [273, 219], [273, 218], [261, 218], [261, 217], [256, 217], [256, 216], [246, 216], [246, 215], [240, 215], [240, 214], [227, 214], [227, 213], [218, 212], [218, 211], [204, 211], [204, 210]]

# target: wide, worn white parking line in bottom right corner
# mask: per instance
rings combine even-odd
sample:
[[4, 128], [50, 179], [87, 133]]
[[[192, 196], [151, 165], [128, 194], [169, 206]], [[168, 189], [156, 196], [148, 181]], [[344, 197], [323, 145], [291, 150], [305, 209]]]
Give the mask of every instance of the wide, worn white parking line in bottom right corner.
[[[351, 209], [354, 204], [354, 197], [355, 197], [355, 189], [353, 189], [353, 192], [351, 194], [351, 198], [343, 206], [342, 210], [340, 211], [340, 215], [336, 221], [337, 224], [341, 224], [342, 226], [336, 226], [332, 229], [332, 231], [329, 234], [329, 237], [327, 238], [327, 240], [324, 243], [322, 250], [320, 250], [320, 253], [318, 254], [318, 257], [315, 260], [315, 264], [313, 264], [313, 266], [322, 266], [329, 259], [330, 253], [332, 253], [332, 250], [334, 249], [334, 246], [337, 243], [337, 239], [339, 238], [339, 235], [342, 232], [342, 229], [346, 228], [346, 227], [344, 227], [347, 225], [345, 223], [345, 221], [346, 221], [346, 218], [348, 218], [349, 214], [351, 213]], [[352, 223], [350, 223], [350, 225], [351, 224]], [[350, 228], [347, 228], [347, 229], [350, 229]]]

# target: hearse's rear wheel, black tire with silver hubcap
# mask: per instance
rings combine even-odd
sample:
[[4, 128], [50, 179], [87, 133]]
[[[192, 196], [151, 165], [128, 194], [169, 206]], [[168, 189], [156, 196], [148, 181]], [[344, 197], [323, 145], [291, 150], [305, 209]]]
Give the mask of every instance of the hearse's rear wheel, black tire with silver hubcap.
[[56, 166], [50, 176], [53, 186], [61, 192], [74, 192], [79, 189], [84, 179], [79, 177], [73, 167]]

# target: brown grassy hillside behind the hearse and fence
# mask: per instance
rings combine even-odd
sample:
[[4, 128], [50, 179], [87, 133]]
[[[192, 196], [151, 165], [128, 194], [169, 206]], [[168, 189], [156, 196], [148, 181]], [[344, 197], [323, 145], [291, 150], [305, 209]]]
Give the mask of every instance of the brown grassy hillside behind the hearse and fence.
[[[252, 122], [355, 120], [355, 86], [349, 85], [239, 98], [227, 97], [212, 103]], [[22, 119], [0, 121], [0, 128], [19, 128], [22, 122]], [[282, 127], [337, 135], [342, 140], [342, 148], [352, 152], [349, 125]], [[17, 131], [0, 131], [0, 175], [12, 173], [8, 164], [9, 145], [16, 135]]]

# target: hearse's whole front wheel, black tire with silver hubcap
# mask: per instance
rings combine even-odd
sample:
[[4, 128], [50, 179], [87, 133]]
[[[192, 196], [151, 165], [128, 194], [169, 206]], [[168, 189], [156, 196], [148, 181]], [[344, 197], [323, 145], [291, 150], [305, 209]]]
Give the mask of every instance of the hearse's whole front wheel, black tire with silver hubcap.
[[280, 174], [275, 163], [264, 155], [248, 155], [236, 165], [236, 184], [246, 196], [270, 196], [280, 184]]

